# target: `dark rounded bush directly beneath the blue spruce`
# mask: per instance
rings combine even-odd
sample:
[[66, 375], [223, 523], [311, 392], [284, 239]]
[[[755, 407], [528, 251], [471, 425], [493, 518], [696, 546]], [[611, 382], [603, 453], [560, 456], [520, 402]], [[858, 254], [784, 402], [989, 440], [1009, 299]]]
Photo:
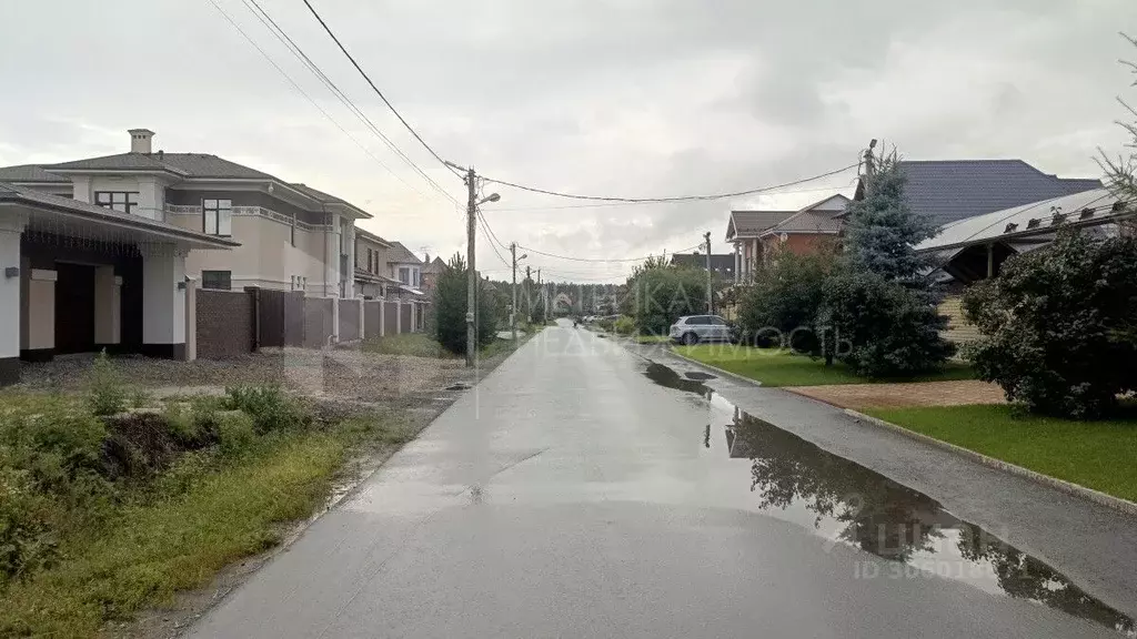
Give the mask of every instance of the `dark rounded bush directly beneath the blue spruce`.
[[843, 271], [824, 283], [818, 331], [836, 356], [856, 374], [907, 376], [935, 371], [955, 354], [940, 337], [947, 317], [924, 291], [905, 288], [874, 273]]

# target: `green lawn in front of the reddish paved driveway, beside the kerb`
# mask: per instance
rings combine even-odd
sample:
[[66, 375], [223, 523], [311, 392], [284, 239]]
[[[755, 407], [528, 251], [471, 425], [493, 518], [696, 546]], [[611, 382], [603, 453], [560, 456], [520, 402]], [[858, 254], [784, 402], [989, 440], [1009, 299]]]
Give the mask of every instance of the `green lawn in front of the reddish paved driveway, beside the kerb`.
[[1076, 422], [1010, 406], [870, 409], [870, 415], [1053, 478], [1137, 501], [1137, 409]]

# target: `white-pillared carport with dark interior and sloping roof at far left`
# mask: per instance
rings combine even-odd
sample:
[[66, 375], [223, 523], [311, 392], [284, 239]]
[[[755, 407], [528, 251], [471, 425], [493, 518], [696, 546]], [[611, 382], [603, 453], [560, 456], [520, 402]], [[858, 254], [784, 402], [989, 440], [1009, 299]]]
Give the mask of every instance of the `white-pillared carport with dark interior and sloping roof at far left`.
[[63, 354], [189, 358], [185, 256], [235, 246], [0, 183], [0, 384]]

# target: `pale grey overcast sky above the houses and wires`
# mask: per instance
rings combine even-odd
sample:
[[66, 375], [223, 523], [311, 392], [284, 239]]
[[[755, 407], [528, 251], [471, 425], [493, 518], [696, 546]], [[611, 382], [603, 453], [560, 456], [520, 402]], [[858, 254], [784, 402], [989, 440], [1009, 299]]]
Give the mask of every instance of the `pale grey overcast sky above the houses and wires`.
[[[465, 252], [464, 216], [289, 53], [241, 0], [219, 6], [384, 168], [304, 98], [209, 0], [0, 0], [0, 166], [128, 150], [210, 152], [350, 200], [412, 250]], [[259, 0], [390, 140], [460, 202], [301, 0]], [[1124, 141], [1118, 59], [1135, 0], [313, 0], [442, 157], [488, 177], [588, 194], [737, 191], [825, 173], [869, 139], [910, 159], [1022, 158], [1098, 176]], [[687, 249], [730, 208], [796, 208], [854, 172], [778, 197], [579, 202], [487, 185], [497, 236], [576, 257]], [[829, 189], [829, 190], [825, 190]], [[541, 208], [543, 207], [543, 208]], [[561, 208], [555, 208], [561, 207]], [[479, 234], [479, 267], [506, 275]], [[546, 277], [620, 280], [626, 264], [532, 255]]]

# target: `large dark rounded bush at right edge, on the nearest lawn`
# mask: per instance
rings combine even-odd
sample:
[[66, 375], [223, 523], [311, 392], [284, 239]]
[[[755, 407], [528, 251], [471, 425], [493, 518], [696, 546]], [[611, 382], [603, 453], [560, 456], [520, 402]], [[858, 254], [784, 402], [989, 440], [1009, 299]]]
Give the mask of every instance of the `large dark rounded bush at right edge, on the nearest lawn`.
[[1137, 389], [1137, 240], [1059, 233], [963, 298], [976, 372], [1029, 410], [1101, 417]]

